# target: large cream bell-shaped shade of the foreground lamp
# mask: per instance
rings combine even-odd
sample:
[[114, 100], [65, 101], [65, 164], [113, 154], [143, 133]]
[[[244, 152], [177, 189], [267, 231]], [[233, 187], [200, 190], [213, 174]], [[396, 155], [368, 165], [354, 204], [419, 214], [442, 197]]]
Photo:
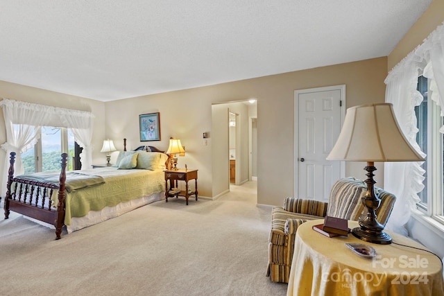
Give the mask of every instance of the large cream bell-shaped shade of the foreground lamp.
[[350, 107], [328, 160], [351, 162], [420, 162], [424, 158], [404, 137], [393, 105]]

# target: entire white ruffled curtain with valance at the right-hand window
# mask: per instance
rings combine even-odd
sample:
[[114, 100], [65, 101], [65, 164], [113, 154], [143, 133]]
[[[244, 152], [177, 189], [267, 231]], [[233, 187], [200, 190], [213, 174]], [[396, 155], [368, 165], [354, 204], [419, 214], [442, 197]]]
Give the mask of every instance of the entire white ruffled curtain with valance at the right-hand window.
[[[443, 25], [438, 26], [423, 44], [397, 64], [385, 80], [386, 102], [393, 103], [393, 110], [402, 132], [418, 151], [420, 148], [416, 143], [418, 128], [414, 107], [423, 99], [416, 90], [420, 75], [430, 80], [432, 100], [444, 106], [443, 96], [440, 95], [444, 94]], [[440, 131], [444, 132], [444, 127]], [[422, 155], [425, 156], [424, 153]], [[411, 209], [419, 202], [418, 192], [424, 188], [422, 175], [425, 171], [420, 165], [421, 162], [386, 162], [384, 164], [384, 189], [396, 195], [395, 206], [386, 225], [387, 229], [407, 235], [404, 225], [411, 216]]]

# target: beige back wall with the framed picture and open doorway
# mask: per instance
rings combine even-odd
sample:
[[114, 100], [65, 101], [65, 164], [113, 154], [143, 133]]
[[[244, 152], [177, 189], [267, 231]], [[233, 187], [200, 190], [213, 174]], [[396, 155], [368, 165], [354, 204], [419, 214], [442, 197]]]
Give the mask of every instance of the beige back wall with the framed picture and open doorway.
[[[139, 114], [160, 112], [162, 140], [148, 143], [166, 150], [169, 137], [181, 139], [187, 155], [179, 158], [179, 166], [198, 168], [199, 194], [216, 196], [223, 193], [226, 180], [213, 173], [219, 166], [213, 167], [212, 160], [212, 143], [217, 141], [212, 134], [212, 104], [257, 98], [257, 202], [282, 204], [294, 188], [294, 91], [345, 84], [347, 107], [384, 102], [386, 69], [386, 58], [376, 58], [107, 102], [106, 134], [114, 142], [126, 137], [129, 148], [135, 148], [142, 144]], [[203, 146], [203, 132], [210, 132], [208, 146]], [[225, 174], [225, 166], [221, 170]], [[364, 164], [347, 164], [346, 175], [364, 178], [364, 173]]]

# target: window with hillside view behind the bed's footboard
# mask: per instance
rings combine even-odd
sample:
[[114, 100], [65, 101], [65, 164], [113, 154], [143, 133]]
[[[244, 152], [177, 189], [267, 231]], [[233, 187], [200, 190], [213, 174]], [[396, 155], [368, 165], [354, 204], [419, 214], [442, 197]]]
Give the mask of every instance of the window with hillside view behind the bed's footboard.
[[68, 153], [67, 171], [74, 169], [74, 134], [67, 128], [43, 126], [35, 146], [22, 153], [24, 173], [60, 171], [60, 154]]

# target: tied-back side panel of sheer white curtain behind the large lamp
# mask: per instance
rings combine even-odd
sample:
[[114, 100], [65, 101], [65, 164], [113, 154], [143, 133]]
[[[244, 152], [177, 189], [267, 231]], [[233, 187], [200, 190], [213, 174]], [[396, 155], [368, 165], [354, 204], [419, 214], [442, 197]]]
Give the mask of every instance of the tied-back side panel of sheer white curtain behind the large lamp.
[[[414, 53], [404, 58], [386, 78], [386, 102], [393, 104], [393, 111], [405, 137], [420, 151], [416, 143], [416, 115], [414, 107], [420, 105], [422, 95], [416, 90], [422, 62]], [[425, 156], [424, 153], [421, 153]], [[425, 171], [421, 162], [386, 162], [384, 164], [384, 189], [395, 194], [396, 202], [387, 229], [407, 235], [404, 225], [410, 218], [410, 210], [419, 202], [417, 193], [424, 185]]]

